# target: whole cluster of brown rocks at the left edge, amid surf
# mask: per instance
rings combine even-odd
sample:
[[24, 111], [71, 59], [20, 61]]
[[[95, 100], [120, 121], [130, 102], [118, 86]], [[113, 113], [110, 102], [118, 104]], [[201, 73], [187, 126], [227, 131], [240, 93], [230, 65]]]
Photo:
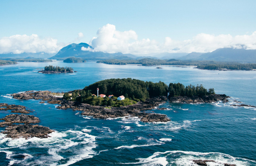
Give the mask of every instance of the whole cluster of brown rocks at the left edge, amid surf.
[[[6, 127], [1, 133], [7, 134], [5, 137], [8, 138], [48, 138], [51, 137], [48, 134], [54, 132], [49, 127], [34, 125], [39, 123], [38, 117], [33, 115], [28, 115], [30, 110], [27, 110], [25, 106], [22, 105], [8, 105], [7, 103], [0, 103], [0, 110], [12, 110], [14, 113], [22, 114], [10, 114], [1, 118], [4, 122], [0, 122], [0, 127]], [[25, 114], [24, 114], [25, 113]], [[18, 124], [15, 124], [18, 123]]]

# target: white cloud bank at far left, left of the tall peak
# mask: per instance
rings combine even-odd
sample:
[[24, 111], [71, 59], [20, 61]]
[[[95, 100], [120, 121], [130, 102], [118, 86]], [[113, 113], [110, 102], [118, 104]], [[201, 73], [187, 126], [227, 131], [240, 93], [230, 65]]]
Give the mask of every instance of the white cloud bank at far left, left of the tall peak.
[[20, 54], [23, 52], [48, 52], [55, 53], [59, 51], [63, 45], [59, 44], [56, 39], [41, 39], [37, 34], [30, 36], [24, 34], [16, 34], [10, 37], [0, 38], [0, 53]]

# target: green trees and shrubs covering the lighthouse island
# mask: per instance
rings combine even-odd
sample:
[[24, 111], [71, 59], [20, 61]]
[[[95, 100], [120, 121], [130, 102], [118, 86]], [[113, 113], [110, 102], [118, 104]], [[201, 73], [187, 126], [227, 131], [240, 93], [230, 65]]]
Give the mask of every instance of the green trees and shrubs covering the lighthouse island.
[[[97, 88], [99, 94], [105, 94], [106, 97], [97, 97]], [[214, 94], [214, 89], [205, 89], [202, 85], [185, 87], [180, 83], [170, 83], [167, 86], [164, 82], [141, 81], [138, 79], [105, 79], [95, 82], [82, 90], [74, 90], [65, 93], [63, 98], [66, 100], [76, 101], [80, 103], [87, 103], [91, 105], [103, 105], [111, 107], [120, 107], [131, 105], [136, 102], [145, 101], [150, 97], [167, 96], [198, 96]], [[96, 95], [93, 95], [96, 94]], [[108, 95], [114, 95], [108, 98]], [[116, 100], [118, 96], [124, 95], [125, 100]]]

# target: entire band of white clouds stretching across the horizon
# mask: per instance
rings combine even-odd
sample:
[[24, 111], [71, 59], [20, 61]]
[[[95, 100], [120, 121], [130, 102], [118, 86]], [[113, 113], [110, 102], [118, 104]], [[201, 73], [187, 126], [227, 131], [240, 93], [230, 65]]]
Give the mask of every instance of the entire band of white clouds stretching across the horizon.
[[[154, 33], [154, 32], [152, 32]], [[84, 37], [78, 33], [77, 40]], [[109, 53], [122, 52], [124, 54], [150, 54], [150, 53], [181, 53], [181, 52], [212, 52], [220, 48], [256, 49], [256, 31], [252, 34], [197, 34], [192, 39], [178, 41], [171, 37], [165, 37], [164, 42], [152, 39], [140, 39], [135, 31], [117, 31], [115, 25], [107, 24], [98, 29], [96, 37], [89, 44], [91, 48], [81, 48], [84, 51], [103, 51]], [[67, 44], [60, 43], [52, 38], [40, 38], [36, 34], [30, 36], [12, 35], [0, 38], [0, 54], [23, 52], [48, 52], [56, 53]]]

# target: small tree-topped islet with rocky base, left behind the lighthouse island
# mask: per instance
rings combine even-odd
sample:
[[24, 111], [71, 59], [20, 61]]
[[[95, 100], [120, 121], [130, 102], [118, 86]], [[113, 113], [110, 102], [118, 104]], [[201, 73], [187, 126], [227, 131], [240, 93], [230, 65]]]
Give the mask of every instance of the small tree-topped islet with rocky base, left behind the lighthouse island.
[[[72, 67], [60, 67], [60, 66], [45, 66], [44, 70], [39, 71], [39, 73], [51, 74], [51, 73], [73, 73], [74, 69]], [[75, 71], [76, 72], [76, 71]]]

